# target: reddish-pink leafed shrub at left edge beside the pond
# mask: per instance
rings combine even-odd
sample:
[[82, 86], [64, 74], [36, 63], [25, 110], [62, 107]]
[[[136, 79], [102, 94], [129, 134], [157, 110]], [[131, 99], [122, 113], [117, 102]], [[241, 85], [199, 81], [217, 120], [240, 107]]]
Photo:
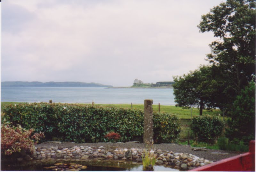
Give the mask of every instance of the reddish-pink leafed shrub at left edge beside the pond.
[[3, 124], [1, 126], [1, 153], [11, 155], [14, 152], [20, 152], [21, 149], [32, 152], [35, 149], [34, 144], [44, 137], [43, 133], [31, 136], [33, 131], [34, 129], [25, 130], [20, 125], [11, 127]]

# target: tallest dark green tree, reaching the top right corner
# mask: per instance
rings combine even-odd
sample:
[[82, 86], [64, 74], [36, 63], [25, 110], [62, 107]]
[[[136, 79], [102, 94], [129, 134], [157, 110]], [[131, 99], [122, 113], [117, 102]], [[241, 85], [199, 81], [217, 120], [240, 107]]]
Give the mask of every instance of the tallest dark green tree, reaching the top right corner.
[[216, 107], [231, 108], [236, 96], [255, 75], [255, 1], [227, 0], [202, 16], [200, 32], [219, 38], [210, 44], [207, 60], [218, 69]]

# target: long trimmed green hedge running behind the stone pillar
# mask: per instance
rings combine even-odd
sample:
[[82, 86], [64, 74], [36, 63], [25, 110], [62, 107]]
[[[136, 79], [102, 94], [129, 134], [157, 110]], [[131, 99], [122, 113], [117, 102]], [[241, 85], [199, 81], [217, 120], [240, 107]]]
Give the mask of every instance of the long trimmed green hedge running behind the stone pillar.
[[[7, 105], [4, 118], [35, 132], [44, 132], [45, 141], [106, 142], [109, 132], [121, 135], [121, 142], [143, 139], [143, 114], [138, 109], [103, 108], [82, 104], [33, 103]], [[180, 120], [169, 113], [154, 112], [154, 142], [177, 142]]]

